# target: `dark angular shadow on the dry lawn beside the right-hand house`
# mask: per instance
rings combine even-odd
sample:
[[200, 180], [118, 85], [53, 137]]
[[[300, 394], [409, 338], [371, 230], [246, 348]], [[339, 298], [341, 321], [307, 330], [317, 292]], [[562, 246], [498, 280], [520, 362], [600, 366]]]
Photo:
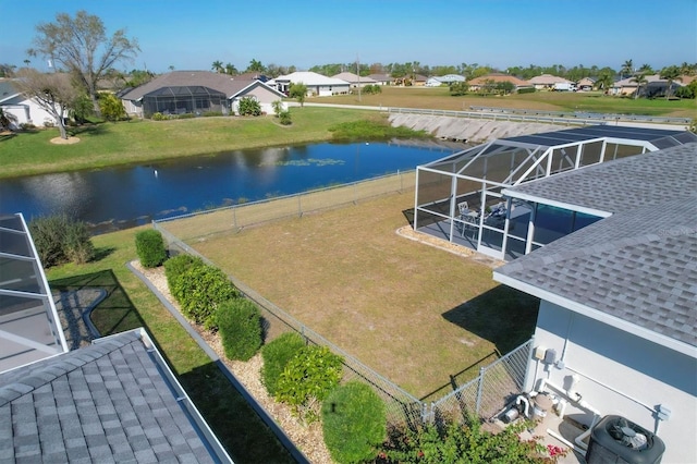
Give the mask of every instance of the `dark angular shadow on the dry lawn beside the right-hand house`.
[[493, 343], [499, 353], [506, 354], [533, 337], [538, 309], [538, 298], [506, 285], [497, 285], [442, 316]]

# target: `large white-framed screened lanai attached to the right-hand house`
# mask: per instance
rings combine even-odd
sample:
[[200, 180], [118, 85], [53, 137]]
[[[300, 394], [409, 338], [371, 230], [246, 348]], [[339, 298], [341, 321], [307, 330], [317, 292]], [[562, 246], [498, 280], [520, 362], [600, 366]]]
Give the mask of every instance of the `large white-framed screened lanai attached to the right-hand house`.
[[697, 135], [612, 125], [496, 139], [417, 167], [414, 229], [515, 259], [607, 213], [506, 198], [505, 187], [689, 142]]

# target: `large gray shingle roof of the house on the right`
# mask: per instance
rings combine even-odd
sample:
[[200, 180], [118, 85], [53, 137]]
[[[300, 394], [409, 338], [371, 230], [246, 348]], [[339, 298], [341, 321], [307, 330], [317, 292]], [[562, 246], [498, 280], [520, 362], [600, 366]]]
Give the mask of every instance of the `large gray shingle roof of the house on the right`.
[[697, 346], [696, 182], [697, 144], [535, 182], [540, 197], [614, 213], [494, 274]]

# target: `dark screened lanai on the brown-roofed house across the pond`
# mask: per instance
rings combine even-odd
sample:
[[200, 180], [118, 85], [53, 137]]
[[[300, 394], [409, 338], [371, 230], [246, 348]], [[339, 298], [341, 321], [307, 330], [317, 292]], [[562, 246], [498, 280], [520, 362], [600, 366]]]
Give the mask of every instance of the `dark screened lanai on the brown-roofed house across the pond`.
[[161, 87], [143, 96], [143, 115], [162, 114], [200, 114], [216, 111], [227, 113], [229, 110], [225, 94], [200, 85]]

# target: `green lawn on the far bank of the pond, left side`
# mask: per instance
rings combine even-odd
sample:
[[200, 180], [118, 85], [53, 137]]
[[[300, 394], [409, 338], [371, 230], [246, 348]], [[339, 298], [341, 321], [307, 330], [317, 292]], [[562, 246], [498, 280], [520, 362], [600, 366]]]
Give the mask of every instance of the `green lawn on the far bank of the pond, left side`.
[[144, 162], [241, 148], [292, 145], [332, 138], [344, 122], [379, 118], [375, 111], [292, 109], [293, 124], [274, 117], [197, 118], [101, 123], [71, 129], [80, 143], [57, 145], [58, 130], [20, 133], [0, 139], [0, 178]]

